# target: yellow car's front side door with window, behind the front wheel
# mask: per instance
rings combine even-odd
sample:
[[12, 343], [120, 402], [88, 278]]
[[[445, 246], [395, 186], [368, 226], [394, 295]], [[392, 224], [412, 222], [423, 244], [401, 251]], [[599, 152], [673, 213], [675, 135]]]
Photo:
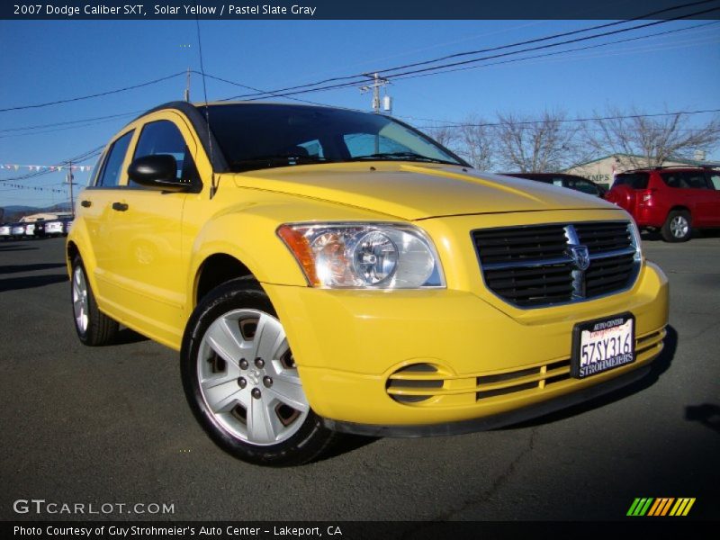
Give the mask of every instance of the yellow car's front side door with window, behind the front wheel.
[[[145, 123], [131, 159], [167, 154], [175, 157], [177, 178], [197, 179], [192, 139], [174, 112], [161, 112]], [[112, 202], [113, 265], [111, 300], [130, 326], [146, 329], [151, 338], [178, 347], [184, 329], [185, 268], [182, 251], [184, 202], [192, 193], [150, 189], [126, 179]]]

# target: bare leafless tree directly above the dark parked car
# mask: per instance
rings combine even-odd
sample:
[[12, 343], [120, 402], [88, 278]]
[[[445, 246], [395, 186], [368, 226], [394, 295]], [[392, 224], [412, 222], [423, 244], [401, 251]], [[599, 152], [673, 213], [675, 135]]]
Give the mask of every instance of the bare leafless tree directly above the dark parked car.
[[565, 112], [545, 111], [539, 120], [499, 112], [498, 120], [498, 161], [508, 171], [556, 172], [588, 156], [581, 126], [566, 121]]

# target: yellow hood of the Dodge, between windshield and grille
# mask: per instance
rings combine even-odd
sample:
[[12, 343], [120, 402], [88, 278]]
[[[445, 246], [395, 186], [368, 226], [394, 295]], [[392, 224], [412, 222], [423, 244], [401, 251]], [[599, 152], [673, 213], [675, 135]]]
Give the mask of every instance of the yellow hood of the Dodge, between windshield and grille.
[[461, 166], [353, 162], [275, 167], [232, 176], [238, 187], [338, 202], [403, 220], [616, 208], [598, 197], [564, 187]]

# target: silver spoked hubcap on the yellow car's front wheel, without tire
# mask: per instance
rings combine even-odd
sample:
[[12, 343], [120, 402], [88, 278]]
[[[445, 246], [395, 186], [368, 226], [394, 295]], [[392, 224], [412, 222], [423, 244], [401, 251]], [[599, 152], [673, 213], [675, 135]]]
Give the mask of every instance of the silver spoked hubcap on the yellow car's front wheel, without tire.
[[[256, 360], [241, 362], [247, 358]], [[212, 322], [197, 377], [213, 420], [252, 445], [292, 437], [310, 411], [283, 325], [263, 311], [229, 311]]]

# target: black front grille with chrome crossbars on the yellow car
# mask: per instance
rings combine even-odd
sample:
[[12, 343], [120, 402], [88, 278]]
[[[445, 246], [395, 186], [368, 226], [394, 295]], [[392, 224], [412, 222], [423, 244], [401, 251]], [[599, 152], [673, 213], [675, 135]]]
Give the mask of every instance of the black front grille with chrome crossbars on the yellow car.
[[[523, 308], [596, 298], [629, 287], [639, 269], [626, 221], [473, 230], [486, 286]], [[573, 247], [587, 247], [581, 269]]]

